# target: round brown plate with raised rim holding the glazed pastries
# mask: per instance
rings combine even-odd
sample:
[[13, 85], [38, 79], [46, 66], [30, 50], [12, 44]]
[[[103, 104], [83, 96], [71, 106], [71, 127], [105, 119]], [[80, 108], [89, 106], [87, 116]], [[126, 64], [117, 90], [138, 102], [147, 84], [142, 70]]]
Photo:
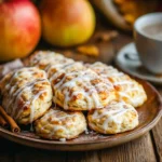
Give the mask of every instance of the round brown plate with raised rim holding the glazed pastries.
[[29, 131], [22, 131], [19, 134], [14, 134], [3, 127], [0, 127], [0, 135], [9, 140], [22, 145], [48, 150], [96, 150], [127, 143], [140, 137], [151, 130], [160, 120], [162, 114], [162, 102], [157, 90], [146, 81], [137, 81], [144, 85], [148, 99], [141, 107], [137, 108], [139, 125], [133, 131], [116, 135], [102, 135], [96, 134], [95, 132], [89, 132], [89, 134], [82, 134], [78, 138], [67, 141], [45, 140], [39, 138], [35, 135], [35, 133]]

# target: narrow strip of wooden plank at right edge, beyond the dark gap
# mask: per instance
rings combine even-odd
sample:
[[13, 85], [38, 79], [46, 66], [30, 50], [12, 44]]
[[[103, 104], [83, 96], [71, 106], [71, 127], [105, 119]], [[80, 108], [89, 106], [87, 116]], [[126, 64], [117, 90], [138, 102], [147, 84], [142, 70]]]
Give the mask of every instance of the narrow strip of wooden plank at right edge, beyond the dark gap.
[[[157, 87], [162, 96], [162, 87]], [[156, 156], [158, 161], [162, 162], [162, 119], [152, 129], [152, 140], [154, 144]]]

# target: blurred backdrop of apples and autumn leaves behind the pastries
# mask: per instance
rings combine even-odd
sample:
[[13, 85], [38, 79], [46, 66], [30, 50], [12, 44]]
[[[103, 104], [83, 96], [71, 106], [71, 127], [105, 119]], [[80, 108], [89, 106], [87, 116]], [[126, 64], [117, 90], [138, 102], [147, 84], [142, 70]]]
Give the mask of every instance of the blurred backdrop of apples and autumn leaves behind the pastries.
[[0, 60], [54, 50], [79, 60], [111, 63], [133, 40], [135, 19], [161, 11], [160, 0], [1, 0]]

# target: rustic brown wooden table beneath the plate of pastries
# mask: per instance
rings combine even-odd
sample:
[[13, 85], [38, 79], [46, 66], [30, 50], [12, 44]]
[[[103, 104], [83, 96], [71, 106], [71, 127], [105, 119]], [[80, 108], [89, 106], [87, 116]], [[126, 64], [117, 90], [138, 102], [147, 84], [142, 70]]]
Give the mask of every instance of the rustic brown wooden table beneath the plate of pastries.
[[[106, 23], [100, 30], [111, 29]], [[106, 42], [107, 56], [132, 41], [132, 37], [119, 31], [119, 37]], [[157, 86], [162, 95], [162, 86]], [[11, 143], [0, 138], [0, 162], [162, 162], [162, 119], [157, 126], [143, 137], [127, 144], [97, 151], [59, 152], [46, 151]]]

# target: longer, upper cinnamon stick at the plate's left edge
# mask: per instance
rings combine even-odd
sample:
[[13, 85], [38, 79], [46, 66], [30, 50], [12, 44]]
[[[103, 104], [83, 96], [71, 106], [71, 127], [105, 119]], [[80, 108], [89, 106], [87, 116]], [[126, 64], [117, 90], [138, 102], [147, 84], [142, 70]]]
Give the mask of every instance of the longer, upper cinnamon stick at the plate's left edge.
[[1, 106], [0, 106], [0, 113], [6, 120], [6, 122], [10, 124], [11, 131], [13, 133], [19, 133], [21, 132], [21, 129], [16, 124], [16, 122], [4, 111], [4, 109]]

